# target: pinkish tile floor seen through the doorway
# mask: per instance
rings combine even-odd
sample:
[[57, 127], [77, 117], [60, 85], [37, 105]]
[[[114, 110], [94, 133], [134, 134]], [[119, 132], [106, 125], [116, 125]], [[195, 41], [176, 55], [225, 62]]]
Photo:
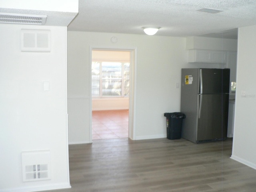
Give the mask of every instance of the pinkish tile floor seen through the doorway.
[[129, 110], [92, 111], [92, 139], [128, 137]]

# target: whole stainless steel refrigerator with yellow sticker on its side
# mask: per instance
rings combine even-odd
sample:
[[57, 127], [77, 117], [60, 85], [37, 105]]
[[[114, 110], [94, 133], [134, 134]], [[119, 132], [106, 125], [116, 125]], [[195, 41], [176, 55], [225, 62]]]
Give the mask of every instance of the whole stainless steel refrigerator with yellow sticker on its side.
[[194, 143], [227, 137], [230, 69], [183, 68], [182, 138]]

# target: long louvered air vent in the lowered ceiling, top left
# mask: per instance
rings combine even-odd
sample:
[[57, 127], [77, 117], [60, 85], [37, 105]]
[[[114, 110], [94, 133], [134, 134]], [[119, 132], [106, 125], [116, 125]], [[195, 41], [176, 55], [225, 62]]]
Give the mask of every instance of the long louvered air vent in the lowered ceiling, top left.
[[44, 25], [46, 15], [0, 13], [0, 23]]

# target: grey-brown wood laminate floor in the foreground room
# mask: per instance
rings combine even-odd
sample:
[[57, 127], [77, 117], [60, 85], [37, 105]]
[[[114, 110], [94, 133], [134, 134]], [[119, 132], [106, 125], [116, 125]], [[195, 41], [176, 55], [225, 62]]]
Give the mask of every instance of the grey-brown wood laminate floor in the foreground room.
[[255, 192], [256, 170], [230, 158], [232, 139], [94, 140], [69, 146], [72, 188], [48, 192]]

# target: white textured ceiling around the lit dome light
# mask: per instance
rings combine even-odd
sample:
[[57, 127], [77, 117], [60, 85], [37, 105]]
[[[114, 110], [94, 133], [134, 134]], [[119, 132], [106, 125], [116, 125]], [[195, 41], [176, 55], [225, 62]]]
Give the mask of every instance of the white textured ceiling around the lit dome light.
[[[202, 8], [224, 11], [197, 11]], [[256, 25], [256, 0], [79, 0], [68, 30], [144, 34], [142, 27], [155, 26], [161, 36], [236, 38], [237, 30], [226, 31], [250, 25]]]

